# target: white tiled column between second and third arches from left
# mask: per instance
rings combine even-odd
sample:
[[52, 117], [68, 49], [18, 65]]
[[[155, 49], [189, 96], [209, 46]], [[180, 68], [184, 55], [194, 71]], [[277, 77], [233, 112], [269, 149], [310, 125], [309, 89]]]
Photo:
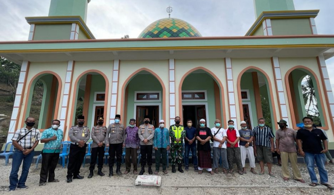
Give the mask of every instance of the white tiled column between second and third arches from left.
[[[119, 65], [120, 60], [114, 60], [114, 68], [113, 68], [113, 82], [111, 86], [111, 104], [110, 104], [110, 117], [109, 121], [106, 121], [106, 124], [111, 124], [115, 122], [115, 115], [117, 110], [117, 92], [118, 92], [118, 76], [119, 76]], [[107, 95], [107, 94], [106, 94]], [[126, 118], [124, 118], [126, 120]]]

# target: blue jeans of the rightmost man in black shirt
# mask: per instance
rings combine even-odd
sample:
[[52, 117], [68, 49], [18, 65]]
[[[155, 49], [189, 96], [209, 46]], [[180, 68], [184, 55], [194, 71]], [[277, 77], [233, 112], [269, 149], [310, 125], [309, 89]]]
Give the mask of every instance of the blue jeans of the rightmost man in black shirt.
[[319, 175], [320, 175], [320, 183], [321, 184], [327, 184], [328, 183], [328, 175], [327, 171], [325, 169], [325, 154], [312, 154], [305, 152], [305, 162], [307, 165], [307, 169], [309, 171], [311, 182], [312, 183], [318, 183], [317, 176], [314, 172], [314, 160], [317, 164]]

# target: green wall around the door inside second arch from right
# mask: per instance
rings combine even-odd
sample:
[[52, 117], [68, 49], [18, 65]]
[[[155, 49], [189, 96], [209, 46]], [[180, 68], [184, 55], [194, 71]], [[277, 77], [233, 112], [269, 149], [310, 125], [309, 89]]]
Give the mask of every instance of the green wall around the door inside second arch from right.
[[[251, 103], [251, 109], [252, 109], [252, 127], [255, 127], [258, 125], [258, 114], [256, 109], [256, 101], [255, 101], [255, 93], [254, 93], [254, 84], [253, 84], [253, 76], [252, 73], [244, 73], [241, 77], [240, 81], [240, 89], [241, 90], [249, 90], [249, 99], [250, 100], [242, 100], [242, 103], [244, 102], [250, 102]], [[242, 119], [242, 118], [241, 118]]]

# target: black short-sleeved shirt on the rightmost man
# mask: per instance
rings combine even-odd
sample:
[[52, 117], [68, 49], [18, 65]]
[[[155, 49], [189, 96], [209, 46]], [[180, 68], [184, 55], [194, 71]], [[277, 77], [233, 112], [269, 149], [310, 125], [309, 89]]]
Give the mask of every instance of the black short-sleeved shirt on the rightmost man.
[[327, 137], [321, 129], [313, 128], [312, 131], [309, 131], [303, 128], [297, 131], [296, 139], [302, 140], [304, 152], [320, 154], [323, 150], [321, 146], [321, 140], [326, 140]]

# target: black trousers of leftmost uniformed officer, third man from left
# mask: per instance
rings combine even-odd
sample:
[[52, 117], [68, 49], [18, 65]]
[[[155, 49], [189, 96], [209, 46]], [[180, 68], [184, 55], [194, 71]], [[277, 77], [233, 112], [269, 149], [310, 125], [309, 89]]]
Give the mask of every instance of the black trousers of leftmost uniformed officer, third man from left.
[[86, 155], [86, 147], [86, 143], [83, 147], [79, 147], [79, 145], [74, 144], [69, 146], [67, 179], [72, 178], [72, 176], [77, 176], [80, 173], [80, 167], [82, 165], [83, 158]]

